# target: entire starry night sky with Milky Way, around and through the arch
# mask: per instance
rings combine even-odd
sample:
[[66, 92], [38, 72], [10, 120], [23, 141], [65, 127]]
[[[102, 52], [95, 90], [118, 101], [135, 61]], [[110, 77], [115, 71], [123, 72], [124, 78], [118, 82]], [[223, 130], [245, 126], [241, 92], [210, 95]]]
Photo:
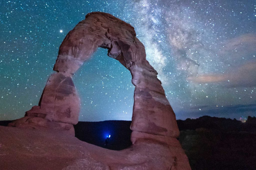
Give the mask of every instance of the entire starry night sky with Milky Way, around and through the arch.
[[[256, 116], [256, 1], [0, 1], [0, 120], [38, 105], [67, 33], [87, 13], [130, 23], [177, 119]], [[80, 121], [131, 120], [131, 74], [99, 48], [76, 72]]]

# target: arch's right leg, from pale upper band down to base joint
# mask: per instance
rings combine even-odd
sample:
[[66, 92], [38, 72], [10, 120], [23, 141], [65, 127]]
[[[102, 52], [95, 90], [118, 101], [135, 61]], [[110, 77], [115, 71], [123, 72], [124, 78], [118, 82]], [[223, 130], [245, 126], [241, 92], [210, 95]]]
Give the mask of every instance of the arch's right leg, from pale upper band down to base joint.
[[131, 74], [135, 86], [131, 130], [178, 137], [176, 117], [157, 79], [157, 72], [149, 64], [134, 64]]

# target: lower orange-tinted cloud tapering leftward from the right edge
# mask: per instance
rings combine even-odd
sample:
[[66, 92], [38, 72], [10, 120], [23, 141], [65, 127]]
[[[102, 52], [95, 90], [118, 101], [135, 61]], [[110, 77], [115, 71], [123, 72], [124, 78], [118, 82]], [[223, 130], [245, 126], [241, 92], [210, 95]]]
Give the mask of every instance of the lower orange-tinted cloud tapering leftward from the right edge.
[[205, 74], [188, 77], [192, 83], [217, 83], [228, 88], [255, 87], [256, 86], [256, 61], [241, 65], [238, 68], [227, 71], [226, 74]]

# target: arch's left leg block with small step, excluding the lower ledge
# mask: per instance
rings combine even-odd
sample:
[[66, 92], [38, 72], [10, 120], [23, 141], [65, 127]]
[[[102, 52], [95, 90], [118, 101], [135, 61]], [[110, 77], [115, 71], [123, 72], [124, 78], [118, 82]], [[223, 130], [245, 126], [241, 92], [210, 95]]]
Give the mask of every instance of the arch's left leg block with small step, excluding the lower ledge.
[[80, 99], [70, 74], [57, 72], [48, 79], [39, 106], [32, 107], [26, 116], [39, 116], [54, 121], [77, 124]]

